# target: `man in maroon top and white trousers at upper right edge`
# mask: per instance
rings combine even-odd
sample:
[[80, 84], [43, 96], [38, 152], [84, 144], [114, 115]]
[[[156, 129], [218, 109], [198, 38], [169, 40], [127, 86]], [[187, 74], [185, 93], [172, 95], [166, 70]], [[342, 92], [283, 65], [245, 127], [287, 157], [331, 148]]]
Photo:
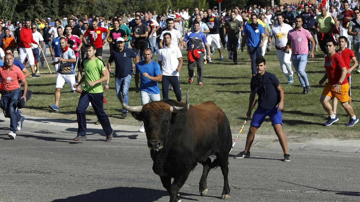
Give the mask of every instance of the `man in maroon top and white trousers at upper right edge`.
[[[348, 22], [350, 22], [350, 20], [352, 18], [354, 18], [354, 12], [349, 9], [349, 2], [347, 0], [344, 0], [342, 2], [342, 7], [344, 8], [344, 10], [339, 14], [339, 19], [337, 21], [337, 30], [339, 30], [340, 36], [345, 36], [347, 38], [347, 48], [351, 49], [351, 41], [352, 41], [352, 36], [349, 36], [347, 33], [347, 26], [348, 26]], [[339, 29], [339, 24], [340, 21], [342, 21], [342, 28]]]

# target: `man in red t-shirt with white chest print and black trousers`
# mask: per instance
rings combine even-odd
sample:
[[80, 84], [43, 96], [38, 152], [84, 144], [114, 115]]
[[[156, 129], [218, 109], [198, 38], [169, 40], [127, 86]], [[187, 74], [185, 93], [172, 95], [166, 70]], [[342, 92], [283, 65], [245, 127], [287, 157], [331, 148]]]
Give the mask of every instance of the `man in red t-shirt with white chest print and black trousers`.
[[86, 30], [82, 40], [84, 41], [84, 45], [86, 45], [87, 43], [86, 37], [87, 35], [90, 35], [89, 36], [90, 43], [94, 44], [96, 48], [95, 56], [101, 59], [103, 53], [103, 43], [106, 43], [106, 38], [103, 41], [102, 35], [103, 32], [106, 33], [108, 29], [103, 27], [98, 27], [98, 20], [96, 20], [95, 18], [91, 20], [91, 25], [92, 27]]

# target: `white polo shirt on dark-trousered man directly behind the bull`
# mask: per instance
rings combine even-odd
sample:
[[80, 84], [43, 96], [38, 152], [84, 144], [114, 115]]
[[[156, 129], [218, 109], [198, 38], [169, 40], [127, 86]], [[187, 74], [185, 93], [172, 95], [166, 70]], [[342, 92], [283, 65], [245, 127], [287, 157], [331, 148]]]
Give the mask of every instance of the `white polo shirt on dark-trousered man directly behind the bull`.
[[161, 73], [166, 76], [179, 76], [176, 71], [179, 65], [178, 58], [182, 58], [181, 51], [177, 45], [171, 43], [169, 47], [162, 47], [158, 53], [158, 61], [162, 61]]

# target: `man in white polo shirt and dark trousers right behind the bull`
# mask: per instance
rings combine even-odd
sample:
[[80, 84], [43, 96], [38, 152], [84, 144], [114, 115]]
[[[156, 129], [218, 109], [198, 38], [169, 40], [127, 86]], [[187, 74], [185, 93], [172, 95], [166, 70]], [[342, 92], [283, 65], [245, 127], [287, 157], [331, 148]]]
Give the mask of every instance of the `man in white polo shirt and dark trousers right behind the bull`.
[[180, 48], [172, 43], [169, 32], [163, 34], [165, 46], [159, 50], [158, 63], [162, 73], [162, 98], [169, 98], [169, 84], [172, 85], [178, 102], [181, 101], [179, 72], [183, 66], [183, 55]]

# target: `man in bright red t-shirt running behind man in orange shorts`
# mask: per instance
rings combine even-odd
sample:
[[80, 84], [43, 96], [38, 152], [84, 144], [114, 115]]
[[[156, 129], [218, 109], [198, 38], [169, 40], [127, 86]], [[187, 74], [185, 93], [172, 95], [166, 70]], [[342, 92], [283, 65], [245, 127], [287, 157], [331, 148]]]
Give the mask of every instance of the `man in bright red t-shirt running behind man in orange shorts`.
[[[357, 67], [358, 63], [355, 57], [354, 52], [351, 49], [347, 49], [346, 48], [346, 41], [347, 38], [345, 36], [341, 36], [338, 39], [339, 41], [339, 49], [336, 50], [336, 52], [338, 52], [339, 54], [341, 54], [342, 59], [344, 59], [344, 62], [346, 64], [346, 78], [347, 81], [349, 82], [349, 105], [351, 105], [351, 72], [352, 70], [354, 70], [355, 67]], [[353, 61], [353, 65], [350, 67], [350, 60]], [[336, 97], [333, 100], [333, 111], [334, 114], [336, 114], [336, 108], [337, 108], [337, 99]]]

